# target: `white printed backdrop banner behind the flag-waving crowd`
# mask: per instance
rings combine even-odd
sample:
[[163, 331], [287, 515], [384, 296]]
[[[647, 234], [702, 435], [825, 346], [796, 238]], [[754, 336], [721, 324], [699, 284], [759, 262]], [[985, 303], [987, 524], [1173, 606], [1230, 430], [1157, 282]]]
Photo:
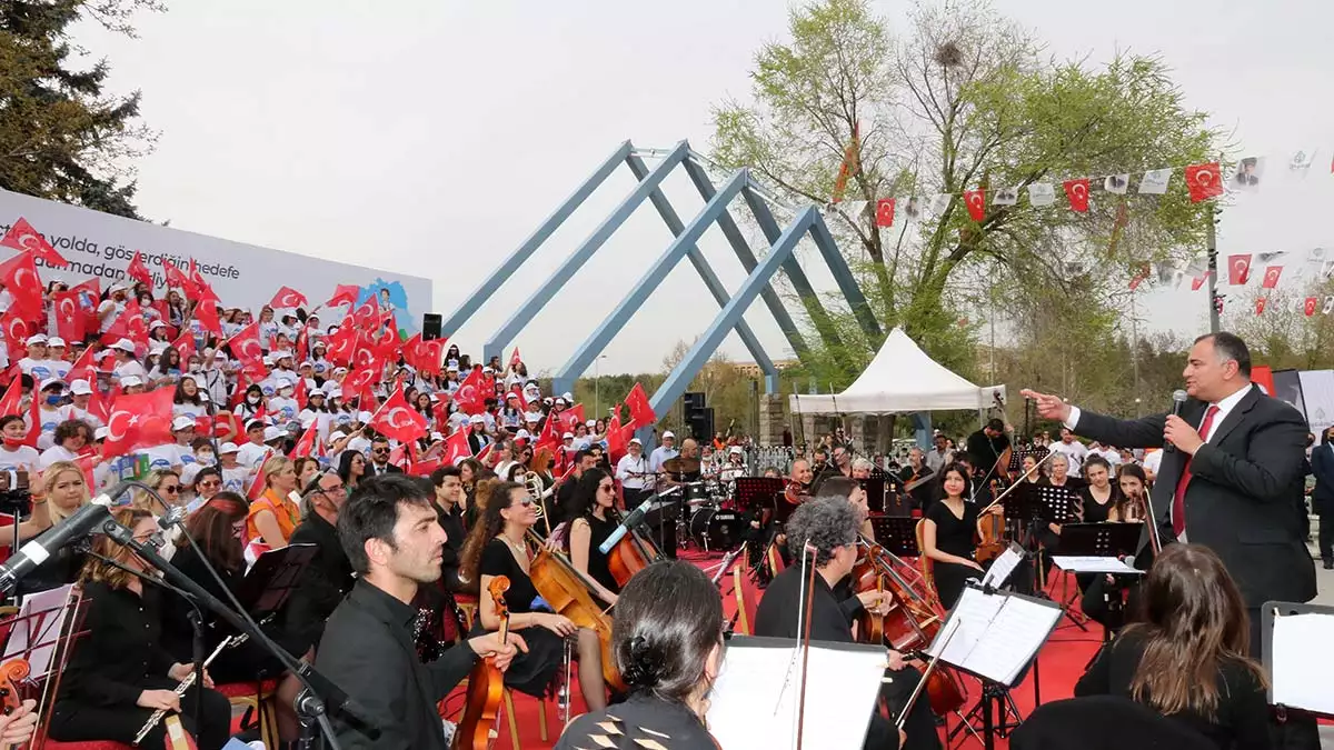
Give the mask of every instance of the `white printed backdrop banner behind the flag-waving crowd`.
[[[127, 279], [125, 267], [137, 250], [157, 282], [157, 295], [164, 279], [163, 256], [183, 271], [193, 258], [227, 307], [257, 312], [281, 286], [304, 294], [313, 307], [327, 300], [334, 287], [356, 284], [362, 290], [358, 302], [372, 294], [384, 302], [384, 291], [388, 291], [399, 330], [407, 335], [418, 332], [422, 314], [431, 311], [431, 282], [420, 276], [197, 235], [0, 190], [0, 236], [20, 216], [69, 262], [65, 268], [56, 270], [41, 266], [39, 260], [44, 282], [60, 279], [80, 283], [100, 276], [105, 290], [111, 282]], [[0, 260], [12, 255], [9, 248], [0, 248]], [[321, 314], [320, 322], [328, 324], [336, 320]]]

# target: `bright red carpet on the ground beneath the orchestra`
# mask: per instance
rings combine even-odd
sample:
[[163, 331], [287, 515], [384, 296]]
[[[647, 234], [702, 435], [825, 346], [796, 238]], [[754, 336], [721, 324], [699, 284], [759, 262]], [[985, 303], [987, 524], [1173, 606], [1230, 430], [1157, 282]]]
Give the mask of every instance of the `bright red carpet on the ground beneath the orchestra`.
[[[691, 559], [691, 562], [695, 562], [696, 565], [704, 569], [716, 565], [716, 562], [719, 560], [718, 555], [710, 555], [706, 558], [703, 555], [691, 555], [690, 552], [683, 552], [682, 556], [683, 559]], [[710, 573], [712, 573], [712, 570], [710, 570]], [[728, 575], [722, 582], [722, 591], [724, 597], [723, 606], [728, 617], [731, 617], [736, 611], [736, 599], [732, 595], [731, 581], [732, 577]], [[750, 579], [747, 577], [743, 575], [742, 581], [744, 585], [743, 597], [750, 597], [750, 599], [747, 599], [747, 609], [754, 610], [755, 606], [754, 595], [756, 594], [756, 590], [754, 589], [754, 585], [750, 583]], [[1061, 587], [1062, 587], [1062, 578], [1059, 577], [1054, 578], [1051, 581], [1051, 586], [1049, 587], [1053, 599], [1059, 598], [1062, 591]], [[1075, 590], [1073, 578], [1070, 579], [1069, 590], [1071, 591]], [[1071, 625], [1070, 619], [1062, 618], [1061, 625], [1057, 627], [1055, 633], [1053, 633], [1051, 639], [1047, 642], [1047, 645], [1042, 649], [1041, 654], [1038, 655], [1037, 669], [1031, 670], [1025, 682], [1010, 693], [1011, 697], [1014, 698], [1015, 705], [1019, 709], [1021, 715], [1026, 717], [1029, 711], [1031, 711], [1033, 707], [1037, 705], [1034, 695], [1035, 682], [1038, 683], [1038, 687], [1041, 690], [1041, 699], [1043, 703], [1058, 701], [1061, 698], [1069, 698], [1074, 693], [1074, 685], [1079, 679], [1079, 675], [1083, 674], [1085, 665], [1089, 662], [1090, 658], [1093, 658], [1094, 653], [1097, 653], [1098, 650], [1098, 646], [1102, 643], [1102, 626], [1097, 623], [1089, 623], [1087, 627], [1089, 630], [1083, 631], [1079, 627]], [[736, 633], [738, 634], [742, 633], [739, 622], [736, 626]], [[970, 695], [968, 695], [968, 703], [963, 709], [964, 713], [967, 711], [967, 709], [972, 707], [972, 703], [976, 702], [976, 698], [980, 695], [980, 689], [978, 687], [976, 681], [966, 678], [966, 683], [968, 685]], [[583, 698], [579, 695], [578, 681], [575, 682], [572, 690], [574, 690], [574, 701], [571, 705], [570, 715], [576, 717], [586, 710]], [[463, 706], [463, 695], [462, 690], [459, 690], [455, 691], [455, 694], [452, 694], [448, 698], [451, 718], [455, 718], [455, 713], [458, 713], [462, 709], [462, 706]], [[555, 701], [547, 702], [548, 731], [546, 742], [542, 741], [539, 733], [540, 721], [539, 721], [538, 701], [528, 695], [515, 693], [514, 709], [515, 709], [516, 725], [519, 727], [519, 742], [515, 743], [511, 739], [508, 722], [504, 717], [502, 717], [500, 738], [495, 743], [496, 750], [503, 750], [508, 747], [523, 747], [524, 750], [546, 749], [546, 747], [552, 747], [555, 745], [556, 738], [560, 735], [560, 729], [563, 726], [560, 722], [560, 715], [556, 709]], [[980, 727], [980, 718], [976, 719], [976, 722], [974, 723], [978, 727]], [[954, 731], [958, 725], [959, 725], [959, 718], [951, 715], [948, 717], [946, 729], [948, 731]], [[942, 739], [944, 738], [944, 731], [946, 730], [942, 730]], [[964, 735], [966, 733], [955, 735], [954, 742], [948, 746], [978, 747], [978, 749], [982, 747], [982, 745], [974, 741], [971, 737], [968, 737], [964, 741], [963, 739]], [[1007, 745], [1009, 743], [1003, 738], [999, 737], [996, 738], [996, 747], [1007, 747]]]

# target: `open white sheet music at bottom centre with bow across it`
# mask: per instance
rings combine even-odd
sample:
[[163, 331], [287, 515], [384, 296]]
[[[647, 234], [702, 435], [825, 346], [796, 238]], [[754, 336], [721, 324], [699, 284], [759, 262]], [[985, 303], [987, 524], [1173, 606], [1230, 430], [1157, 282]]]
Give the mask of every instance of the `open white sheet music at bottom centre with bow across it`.
[[[800, 650], [795, 645], [747, 646], [747, 641], [794, 643], [732, 639], [710, 695], [708, 730], [727, 750], [795, 747]], [[860, 747], [866, 742], [884, 662], [883, 647], [811, 643], [802, 733], [806, 747]]]

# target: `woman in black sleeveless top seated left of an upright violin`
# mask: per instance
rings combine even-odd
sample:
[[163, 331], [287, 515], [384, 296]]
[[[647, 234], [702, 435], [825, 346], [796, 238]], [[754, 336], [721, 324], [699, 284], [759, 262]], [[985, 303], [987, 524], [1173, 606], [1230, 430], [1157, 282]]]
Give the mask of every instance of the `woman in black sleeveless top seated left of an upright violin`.
[[[976, 503], [964, 500], [970, 495], [968, 470], [951, 463], [940, 470], [939, 502], [926, 511], [922, 523], [922, 554], [931, 558], [935, 590], [944, 609], [952, 609], [963, 594], [970, 578], [982, 578], [976, 554]], [[1002, 512], [999, 504], [988, 512]]]

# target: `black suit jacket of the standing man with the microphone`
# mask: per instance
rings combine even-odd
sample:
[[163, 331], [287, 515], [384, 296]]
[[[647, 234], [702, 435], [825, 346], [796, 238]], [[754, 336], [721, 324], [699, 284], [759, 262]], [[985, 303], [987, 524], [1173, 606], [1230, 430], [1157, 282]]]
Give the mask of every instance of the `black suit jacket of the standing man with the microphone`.
[[[1186, 402], [1182, 419], [1198, 426], [1207, 406]], [[1114, 419], [1082, 411], [1075, 434], [1123, 448], [1162, 447], [1166, 420], [1166, 414]], [[1169, 516], [1189, 458], [1181, 451], [1163, 454], [1150, 494], [1165, 542], [1174, 539]], [[1302, 534], [1305, 462], [1306, 420], [1257, 387], [1227, 412], [1191, 462], [1186, 538], [1223, 560], [1250, 609], [1315, 597], [1315, 566]], [[1147, 528], [1139, 544], [1145, 554]]]

